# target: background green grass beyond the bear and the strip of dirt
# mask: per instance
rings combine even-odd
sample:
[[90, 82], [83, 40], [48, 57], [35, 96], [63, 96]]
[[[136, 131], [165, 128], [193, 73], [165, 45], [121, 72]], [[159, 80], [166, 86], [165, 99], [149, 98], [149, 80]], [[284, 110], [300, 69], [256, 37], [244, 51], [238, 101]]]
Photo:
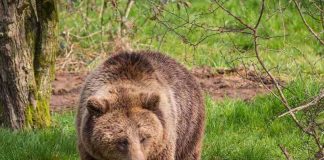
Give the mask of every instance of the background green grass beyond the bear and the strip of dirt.
[[[98, 15], [101, 1], [96, 2], [97, 5], [88, 12], [89, 25], [86, 25], [84, 18], [86, 4], [76, 3], [75, 7], [79, 12], [62, 11], [60, 13], [60, 30], [70, 31], [81, 36], [100, 31], [101, 21]], [[156, 4], [155, 1], [144, 1], [136, 3], [131, 9], [128, 20], [135, 27], [129, 30], [128, 37], [135, 50], [158, 50], [176, 58], [188, 67], [201, 65], [232, 67], [242, 64], [242, 61], [248, 65], [257, 63], [250, 35], [217, 34], [191, 25], [191, 23], [196, 23], [217, 28], [226, 24], [227, 27], [242, 27], [235, 19], [220, 9], [207, 14], [210, 10], [217, 8], [217, 5], [211, 1], [192, 1], [191, 7], [186, 10], [184, 8], [178, 10], [177, 5], [171, 3], [164, 7], [165, 11], [159, 16], [163, 24], [151, 18], [154, 16], [152, 5]], [[258, 18], [259, 5], [259, 1], [256, 0], [226, 1], [224, 3], [226, 8], [252, 26]], [[118, 13], [112, 12], [111, 5], [107, 6], [103, 16], [103, 37], [96, 34], [85, 39], [72, 38], [73, 43], [86, 49], [76, 50], [76, 54], [84, 55], [86, 52], [98, 52], [99, 54], [101, 40], [109, 42], [116, 35], [119, 27], [119, 23], [116, 22]], [[119, 9], [123, 10], [124, 7], [125, 2], [121, 2]], [[321, 25], [308, 16], [306, 18], [313, 29], [319, 33]], [[269, 68], [277, 67], [280, 69], [280, 74], [292, 76], [298, 75], [300, 71], [316, 72], [323, 75], [324, 64], [314, 62], [323, 58], [324, 47], [308, 32], [292, 3], [276, 0], [266, 2], [259, 33], [265, 37], [275, 37], [260, 40], [261, 57]], [[207, 35], [211, 36], [199, 45], [190, 45], [190, 43], [199, 42]], [[105, 43], [104, 51], [110, 52], [113, 45], [113, 43]], [[92, 64], [91, 62], [89, 60], [87, 64]], [[277, 70], [273, 72], [279, 74]]]

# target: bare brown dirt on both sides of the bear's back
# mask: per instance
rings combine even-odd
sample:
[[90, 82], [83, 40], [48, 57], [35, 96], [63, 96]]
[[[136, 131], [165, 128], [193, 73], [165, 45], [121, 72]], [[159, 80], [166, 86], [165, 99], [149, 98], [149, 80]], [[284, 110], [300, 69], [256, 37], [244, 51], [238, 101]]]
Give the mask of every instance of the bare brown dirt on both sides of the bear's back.
[[[269, 78], [261, 77], [251, 70], [199, 67], [192, 69], [192, 73], [202, 89], [214, 100], [226, 97], [250, 100], [274, 87]], [[52, 84], [51, 110], [57, 112], [74, 109], [78, 105], [85, 78], [86, 73], [57, 73]]]

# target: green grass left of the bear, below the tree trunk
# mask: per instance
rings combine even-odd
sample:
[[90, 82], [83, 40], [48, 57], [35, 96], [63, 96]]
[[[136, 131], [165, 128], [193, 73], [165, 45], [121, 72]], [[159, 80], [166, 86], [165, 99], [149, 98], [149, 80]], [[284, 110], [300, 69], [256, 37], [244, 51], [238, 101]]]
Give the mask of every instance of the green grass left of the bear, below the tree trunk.
[[1, 160], [78, 159], [74, 114], [53, 116], [51, 128], [13, 132], [0, 129]]

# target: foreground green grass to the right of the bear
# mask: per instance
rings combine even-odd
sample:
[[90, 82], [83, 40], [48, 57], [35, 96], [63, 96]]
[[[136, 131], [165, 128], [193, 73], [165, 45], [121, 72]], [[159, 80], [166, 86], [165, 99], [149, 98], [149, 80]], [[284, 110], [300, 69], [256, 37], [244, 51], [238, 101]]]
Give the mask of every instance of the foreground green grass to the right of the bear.
[[[312, 82], [308, 93], [299, 97], [285, 93], [291, 97], [289, 102], [297, 105], [301, 99], [318, 93], [317, 85]], [[305, 90], [301, 87], [299, 81], [288, 88], [294, 93]], [[296, 128], [290, 117], [277, 118], [284, 108], [271, 95], [257, 97], [252, 102], [226, 100], [216, 103], [207, 98], [206, 105], [208, 118], [203, 159], [284, 159], [279, 144], [287, 147], [296, 159], [308, 159], [315, 153], [314, 143]]]

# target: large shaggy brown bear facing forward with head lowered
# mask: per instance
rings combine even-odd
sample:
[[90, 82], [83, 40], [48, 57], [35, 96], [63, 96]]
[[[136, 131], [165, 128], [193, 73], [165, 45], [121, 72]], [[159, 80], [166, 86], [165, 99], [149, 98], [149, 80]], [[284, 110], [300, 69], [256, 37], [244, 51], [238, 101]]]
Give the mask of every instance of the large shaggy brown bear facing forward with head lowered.
[[182, 65], [120, 52], [85, 81], [78, 149], [82, 160], [199, 160], [204, 123], [201, 89]]

